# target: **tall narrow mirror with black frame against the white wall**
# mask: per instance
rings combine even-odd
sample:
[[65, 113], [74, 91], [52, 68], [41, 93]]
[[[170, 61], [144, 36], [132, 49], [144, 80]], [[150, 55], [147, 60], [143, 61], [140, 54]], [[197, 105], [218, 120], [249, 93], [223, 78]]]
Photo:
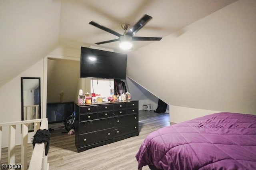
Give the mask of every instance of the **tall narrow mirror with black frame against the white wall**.
[[[21, 120], [41, 119], [40, 77], [21, 77]], [[34, 130], [34, 123], [28, 125]]]

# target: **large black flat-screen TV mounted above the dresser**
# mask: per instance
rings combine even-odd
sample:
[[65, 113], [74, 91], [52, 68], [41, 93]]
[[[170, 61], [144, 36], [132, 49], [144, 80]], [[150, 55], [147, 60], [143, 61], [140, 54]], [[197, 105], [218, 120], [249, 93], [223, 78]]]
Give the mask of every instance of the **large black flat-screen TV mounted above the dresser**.
[[127, 55], [81, 47], [80, 77], [126, 79]]

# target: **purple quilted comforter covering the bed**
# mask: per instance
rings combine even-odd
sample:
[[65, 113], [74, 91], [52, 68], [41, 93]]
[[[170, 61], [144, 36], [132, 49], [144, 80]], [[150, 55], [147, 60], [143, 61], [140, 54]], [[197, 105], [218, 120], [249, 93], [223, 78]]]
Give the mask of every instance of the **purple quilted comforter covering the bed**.
[[138, 169], [256, 170], [256, 115], [214, 113], [150, 133]]

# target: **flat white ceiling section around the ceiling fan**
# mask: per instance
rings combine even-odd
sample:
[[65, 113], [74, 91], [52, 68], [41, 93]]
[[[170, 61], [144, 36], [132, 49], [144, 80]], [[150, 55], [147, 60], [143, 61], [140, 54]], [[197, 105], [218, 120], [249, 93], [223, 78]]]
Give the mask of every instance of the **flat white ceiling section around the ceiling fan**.
[[[203, 18], [236, 0], [62, 0], [60, 42], [82, 42], [120, 51], [119, 42], [96, 45], [118, 37], [88, 24], [94, 21], [120, 34], [121, 24], [131, 27], [144, 14], [152, 16], [135, 36], [164, 37]], [[135, 41], [134, 49], [152, 43]], [[121, 51], [123, 52], [123, 51]], [[129, 51], [127, 51], [129, 52]]]

